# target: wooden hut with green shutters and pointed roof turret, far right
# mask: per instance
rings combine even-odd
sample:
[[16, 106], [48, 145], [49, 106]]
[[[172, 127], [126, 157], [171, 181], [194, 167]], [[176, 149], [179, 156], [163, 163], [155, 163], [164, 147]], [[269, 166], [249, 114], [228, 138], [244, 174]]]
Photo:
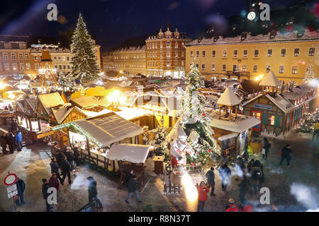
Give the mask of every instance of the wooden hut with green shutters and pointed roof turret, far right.
[[242, 107], [245, 115], [261, 121], [252, 130], [264, 136], [283, 136], [296, 126], [305, 111], [313, 112], [315, 109], [317, 93], [314, 88], [306, 95], [291, 91], [279, 94], [280, 83], [272, 71], [259, 85], [262, 85], [262, 94], [245, 102]]

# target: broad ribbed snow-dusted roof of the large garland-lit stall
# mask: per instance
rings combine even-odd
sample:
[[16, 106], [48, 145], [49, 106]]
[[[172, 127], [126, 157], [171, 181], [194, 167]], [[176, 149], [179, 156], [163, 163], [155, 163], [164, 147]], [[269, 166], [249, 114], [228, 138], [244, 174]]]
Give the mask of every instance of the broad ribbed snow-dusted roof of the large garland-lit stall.
[[84, 133], [94, 138], [101, 146], [122, 141], [125, 138], [138, 136], [142, 127], [123, 119], [118, 114], [110, 112], [101, 117], [73, 121]]

